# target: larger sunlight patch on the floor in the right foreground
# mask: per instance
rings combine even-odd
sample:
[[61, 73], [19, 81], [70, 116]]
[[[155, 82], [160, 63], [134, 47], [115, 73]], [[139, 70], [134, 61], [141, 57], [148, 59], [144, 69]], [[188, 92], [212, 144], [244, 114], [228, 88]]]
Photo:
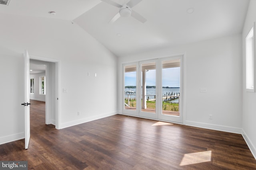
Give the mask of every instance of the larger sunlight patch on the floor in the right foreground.
[[210, 162], [212, 157], [212, 150], [204, 152], [195, 152], [184, 154], [180, 166], [198, 164], [202, 162]]

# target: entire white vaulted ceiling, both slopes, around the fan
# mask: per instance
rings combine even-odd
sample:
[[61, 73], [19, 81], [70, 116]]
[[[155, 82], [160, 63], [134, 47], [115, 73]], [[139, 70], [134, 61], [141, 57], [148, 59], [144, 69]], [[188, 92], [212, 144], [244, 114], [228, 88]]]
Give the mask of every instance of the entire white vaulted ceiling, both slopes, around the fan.
[[[10, 0], [8, 6], [0, 5], [0, 12], [74, 21], [122, 57], [241, 33], [248, 4], [249, 0], [142, 0], [132, 10], [146, 18], [145, 23], [132, 17], [108, 23], [118, 8], [100, 0]], [[189, 8], [194, 8], [192, 14], [186, 12]]]

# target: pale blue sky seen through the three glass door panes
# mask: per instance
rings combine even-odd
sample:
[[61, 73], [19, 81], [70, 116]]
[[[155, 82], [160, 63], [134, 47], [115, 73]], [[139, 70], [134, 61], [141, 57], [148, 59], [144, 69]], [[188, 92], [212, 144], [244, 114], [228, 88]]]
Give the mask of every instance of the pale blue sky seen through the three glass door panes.
[[[162, 86], [180, 87], [180, 67], [164, 68], [162, 70]], [[156, 86], [156, 70], [146, 72], [146, 85]], [[125, 73], [125, 85], [136, 86], [136, 72]]]

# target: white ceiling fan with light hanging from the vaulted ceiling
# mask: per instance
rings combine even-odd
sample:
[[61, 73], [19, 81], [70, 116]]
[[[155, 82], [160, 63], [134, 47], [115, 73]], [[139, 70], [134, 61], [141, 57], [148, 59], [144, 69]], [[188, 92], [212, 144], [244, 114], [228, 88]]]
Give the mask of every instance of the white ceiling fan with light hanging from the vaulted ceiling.
[[128, 3], [124, 5], [120, 5], [116, 2], [113, 2], [112, 0], [102, 0], [102, 1], [119, 8], [119, 12], [108, 23], [113, 23], [120, 17], [129, 17], [129, 16], [132, 16], [133, 18], [135, 18], [136, 20], [142, 23], [146, 22], [146, 19], [143, 16], [138, 14], [136, 11], [132, 10], [132, 7], [136, 6], [142, 0], [130, 0]]

